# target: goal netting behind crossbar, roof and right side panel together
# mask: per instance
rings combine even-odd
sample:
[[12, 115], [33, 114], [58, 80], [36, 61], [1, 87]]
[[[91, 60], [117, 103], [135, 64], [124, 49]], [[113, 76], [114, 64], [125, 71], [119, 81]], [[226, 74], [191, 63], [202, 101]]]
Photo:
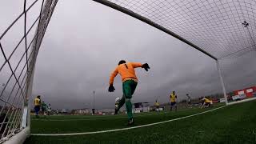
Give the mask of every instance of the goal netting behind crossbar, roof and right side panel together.
[[94, 1], [169, 30], [218, 60], [227, 93], [255, 86], [255, 0]]

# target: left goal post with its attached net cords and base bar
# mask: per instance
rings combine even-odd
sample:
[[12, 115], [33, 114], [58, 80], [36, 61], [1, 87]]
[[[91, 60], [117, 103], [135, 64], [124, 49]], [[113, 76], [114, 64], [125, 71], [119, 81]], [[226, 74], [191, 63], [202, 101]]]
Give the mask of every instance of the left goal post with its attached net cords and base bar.
[[[4, 33], [2, 35], [0, 35], [0, 40], [1, 40], [5, 36], [5, 34], [10, 30], [10, 28], [12, 26], [14, 26], [14, 24], [16, 22], [18, 22], [18, 20], [20, 18], [24, 17], [24, 19], [25, 19], [25, 28], [24, 28], [25, 33], [24, 33], [24, 36], [23, 36], [22, 40], [18, 43], [18, 46], [19, 46], [19, 44], [22, 41], [24, 41], [24, 40], [27, 41], [27, 39], [26, 39], [27, 34], [29, 34], [29, 32], [33, 28], [33, 26], [35, 26], [35, 24], [38, 23], [35, 34], [34, 34], [34, 38], [30, 42], [29, 46], [27, 46], [27, 43], [26, 43], [26, 52], [24, 52], [24, 54], [23, 54], [23, 56], [26, 54], [26, 66], [24, 66], [24, 68], [26, 67], [26, 74], [24, 76], [24, 78], [26, 78], [26, 81], [24, 81], [24, 83], [23, 83], [24, 78], [23, 78], [22, 82], [19, 82], [19, 77], [18, 78], [16, 77], [16, 75], [15, 75], [15, 70], [16, 69], [15, 70], [11, 69], [9, 60], [12, 57], [12, 54], [10, 55], [9, 58], [7, 58], [5, 53], [4, 53], [4, 49], [3, 49], [3, 47], [0, 43], [2, 54], [6, 58], [6, 62], [4, 62], [2, 67], [4, 67], [7, 63], [9, 64], [10, 70], [12, 70], [12, 72], [13, 72], [12, 75], [10, 76], [10, 78], [12, 78], [12, 76], [14, 75], [14, 77], [16, 79], [16, 83], [18, 83], [19, 86], [23, 84], [23, 86], [22, 86], [23, 89], [20, 86], [18, 90], [20, 90], [20, 91], [24, 90], [23, 91], [24, 93], [21, 94], [23, 100], [20, 101], [20, 102], [22, 102], [22, 107], [19, 106], [19, 107], [14, 108], [14, 111], [15, 111], [15, 109], [16, 109], [16, 111], [18, 111], [18, 110], [20, 111], [20, 113], [18, 113], [20, 116], [17, 116], [18, 118], [15, 119], [16, 121], [14, 121], [13, 120], [14, 118], [12, 118], [12, 120], [8, 120], [8, 122], [2, 122], [1, 123], [2, 126], [3, 126], [4, 123], [6, 123], [6, 125], [8, 126], [8, 124], [11, 125], [10, 121], [14, 121], [16, 127], [14, 127], [11, 130], [12, 132], [10, 132], [9, 128], [7, 128], [8, 130], [6, 130], [6, 128], [5, 128], [5, 132], [6, 131], [8, 131], [8, 132], [7, 132], [7, 134], [5, 134], [5, 132], [2, 134], [2, 138], [1, 138], [0, 143], [3, 142], [5, 144], [16, 144], [16, 143], [19, 144], [19, 143], [25, 142], [26, 138], [30, 136], [30, 110], [31, 110], [30, 102], [31, 102], [31, 98], [32, 98], [34, 67], [35, 67], [36, 58], [37, 58], [37, 55], [38, 55], [38, 50], [39, 50], [39, 48], [42, 44], [42, 39], [43, 39], [43, 37], [46, 33], [46, 28], [47, 28], [47, 26], [50, 22], [50, 18], [52, 16], [53, 12], [54, 12], [54, 8], [57, 5], [58, 0], [42, 0], [41, 1], [42, 4], [41, 4], [40, 14], [38, 15], [38, 18], [35, 20], [34, 24], [32, 26], [30, 26], [30, 29], [27, 31], [26, 30], [26, 14], [29, 12], [30, 8], [32, 6], [34, 6], [34, 4], [36, 2], [38, 2], [38, 0], [34, 0], [34, 2], [30, 6], [26, 7], [26, 0], [24, 0], [24, 11], [22, 12], [22, 14], [20, 14], [18, 16], [18, 18], [16, 18], [14, 20], [14, 22], [12, 22], [10, 24], [10, 26], [4, 31]], [[30, 46], [31, 46], [31, 49], [30, 49]], [[17, 47], [14, 49], [13, 53], [15, 52]], [[29, 49], [30, 49], [30, 51], [29, 51]], [[24, 58], [24, 57], [22, 57], [22, 58]], [[20, 64], [20, 62], [18, 62], [18, 65], [19, 64]], [[0, 72], [2, 70], [2, 67], [0, 69]], [[23, 68], [23, 70], [24, 70], [24, 68]], [[22, 72], [23, 72], [23, 70], [22, 70]], [[11, 85], [8, 82], [6, 82], [6, 85], [7, 84]], [[14, 87], [15, 86], [16, 86], [16, 84], [14, 85]], [[6, 86], [4, 86], [4, 89], [2, 90], [2, 93], [5, 89], [6, 89]], [[14, 88], [13, 88], [13, 90], [14, 90]], [[10, 98], [10, 96], [9, 96], [9, 98]], [[16, 98], [16, 96], [15, 96], [15, 98]], [[3, 99], [1, 99], [1, 101], [3, 101]], [[6, 102], [6, 101], [4, 101], [4, 102]], [[12, 103], [10, 103], [8, 101], [6, 103], [14, 106]], [[4, 104], [4, 106], [6, 106], [6, 103]], [[1, 112], [3, 111], [3, 109], [4, 109], [4, 107], [2, 108]], [[22, 109], [22, 110], [20, 110], [20, 109]], [[9, 110], [10, 110], [10, 108], [9, 108]], [[9, 112], [9, 110], [7, 112]], [[4, 118], [4, 120], [7, 119], [7, 114]], [[11, 112], [11, 114], [13, 114], [13, 112]]]

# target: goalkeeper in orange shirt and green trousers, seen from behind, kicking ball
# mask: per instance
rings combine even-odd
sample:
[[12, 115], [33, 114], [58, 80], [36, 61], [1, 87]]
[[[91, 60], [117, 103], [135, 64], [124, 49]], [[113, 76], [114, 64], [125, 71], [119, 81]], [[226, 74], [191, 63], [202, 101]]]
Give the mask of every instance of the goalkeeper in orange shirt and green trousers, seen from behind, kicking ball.
[[150, 66], [145, 63], [141, 64], [138, 62], [127, 62], [124, 60], [121, 60], [118, 62], [118, 66], [114, 70], [114, 72], [110, 75], [110, 86], [109, 86], [109, 92], [114, 92], [114, 78], [117, 76], [117, 74], [120, 74], [122, 77], [122, 98], [120, 102], [118, 103], [117, 108], [115, 109], [115, 114], [118, 114], [118, 110], [126, 103], [126, 111], [128, 115], [128, 126], [134, 124], [134, 118], [132, 114], [132, 104], [130, 102], [130, 99], [132, 98], [132, 95], [134, 94], [134, 91], [136, 89], [138, 78], [135, 74], [135, 68], [142, 67], [146, 71], [150, 69]]

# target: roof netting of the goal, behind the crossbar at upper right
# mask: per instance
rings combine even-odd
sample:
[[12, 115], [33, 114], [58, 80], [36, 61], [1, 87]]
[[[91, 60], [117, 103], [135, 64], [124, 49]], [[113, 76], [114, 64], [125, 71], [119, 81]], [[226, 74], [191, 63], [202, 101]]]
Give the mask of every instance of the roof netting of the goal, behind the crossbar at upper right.
[[[256, 50], [256, 1], [254, 0], [110, 0], [109, 2], [150, 19], [216, 58], [224, 58], [242, 50]], [[242, 24], [245, 21], [249, 26], [245, 27]]]

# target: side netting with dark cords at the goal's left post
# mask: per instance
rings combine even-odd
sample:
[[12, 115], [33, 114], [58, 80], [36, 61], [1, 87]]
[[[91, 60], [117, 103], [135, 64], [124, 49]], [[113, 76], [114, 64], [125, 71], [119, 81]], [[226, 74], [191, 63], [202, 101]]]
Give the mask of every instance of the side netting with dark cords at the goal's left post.
[[35, 59], [57, 2], [24, 0], [22, 13], [0, 29], [0, 142], [27, 126], [23, 114]]

